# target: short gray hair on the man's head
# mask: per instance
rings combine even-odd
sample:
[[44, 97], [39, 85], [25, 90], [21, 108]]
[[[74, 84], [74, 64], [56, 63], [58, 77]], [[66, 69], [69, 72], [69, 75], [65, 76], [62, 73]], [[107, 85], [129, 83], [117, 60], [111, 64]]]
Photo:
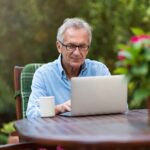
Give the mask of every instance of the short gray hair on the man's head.
[[87, 31], [88, 35], [89, 35], [89, 45], [91, 44], [92, 41], [92, 29], [90, 27], [90, 25], [84, 21], [83, 19], [80, 18], [67, 18], [64, 20], [63, 24], [58, 28], [57, 31], [57, 41], [64, 41], [64, 32], [66, 31], [66, 29], [68, 28], [83, 28]]

